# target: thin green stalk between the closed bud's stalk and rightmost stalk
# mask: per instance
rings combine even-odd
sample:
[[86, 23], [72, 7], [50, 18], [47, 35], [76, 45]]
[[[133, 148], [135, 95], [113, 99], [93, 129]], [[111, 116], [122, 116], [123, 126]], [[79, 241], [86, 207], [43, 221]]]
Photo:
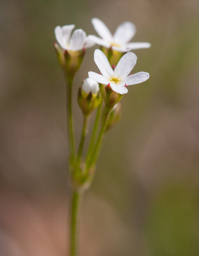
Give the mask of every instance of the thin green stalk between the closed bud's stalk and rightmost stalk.
[[93, 129], [92, 129], [92, 134], [91, 134], [91, 141], [89, 143], [89, 148], [87, 150], [86, 161], [89, 160], [89, 157], [91, 156], [91, 152], [92, 152], [93, 147], [94, 147], [94, 140], [95, 140], [96, 134], [98, 132], [102, 104], [103, 104], [103, 100], [101, 100], [101, 102], [98, 106], [98, 110], [97, 110], [97, 113], [96, 113], [96, 118], [94, 120], [94, 125], [93, 125]]

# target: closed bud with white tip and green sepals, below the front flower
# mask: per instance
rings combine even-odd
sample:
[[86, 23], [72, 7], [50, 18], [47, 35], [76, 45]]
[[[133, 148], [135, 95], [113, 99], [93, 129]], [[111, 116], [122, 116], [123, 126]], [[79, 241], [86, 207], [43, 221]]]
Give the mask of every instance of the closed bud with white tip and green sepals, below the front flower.
[[97, 108], [101, 102], [99, 84], [89, 77], [85, 79], [82, 86], [80, 86], [78, 90], [77, 101], [80, 108], [82, 109], [82, 113], [85, 116], [90, 115], [91, 112]]

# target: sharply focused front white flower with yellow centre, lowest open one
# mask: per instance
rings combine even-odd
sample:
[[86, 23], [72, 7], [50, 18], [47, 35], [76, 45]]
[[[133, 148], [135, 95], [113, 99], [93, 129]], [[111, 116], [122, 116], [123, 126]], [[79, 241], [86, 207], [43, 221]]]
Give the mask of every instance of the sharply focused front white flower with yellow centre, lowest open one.
[[94, 62], [98, 66], [101, 74], [89, 72], [89, 77], [98, 83], [110, 84], [112, 90], [117, 93], [128, 93], [128, 89], [126, 88], [128, 85], [139, 84], [149, 79], [149, 73], [147, 72], [138, 72], [128, 76], [136, 64], [136, 59], [136, 55], [133, 52], [127, 52], [122, 56], [113, 70], [105, 54], [97, 49], [94, 51]]

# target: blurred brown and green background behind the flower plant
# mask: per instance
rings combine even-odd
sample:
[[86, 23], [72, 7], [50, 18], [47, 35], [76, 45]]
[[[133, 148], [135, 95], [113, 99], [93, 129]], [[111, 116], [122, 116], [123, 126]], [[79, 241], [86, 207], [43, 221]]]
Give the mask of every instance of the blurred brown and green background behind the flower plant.
[[[96, 177], [84, 195], [81, 256], [199, 255], [198, 0], [1, 0], [0, 255], [68, 255], [70, 182], [64, 77], [57, 25], [96, 35], [91, 18], [114, 32], [136, 24], [134, 72], [122, 118], [107, 133]], [[89, 70], [88, 49], [73, 86]]]

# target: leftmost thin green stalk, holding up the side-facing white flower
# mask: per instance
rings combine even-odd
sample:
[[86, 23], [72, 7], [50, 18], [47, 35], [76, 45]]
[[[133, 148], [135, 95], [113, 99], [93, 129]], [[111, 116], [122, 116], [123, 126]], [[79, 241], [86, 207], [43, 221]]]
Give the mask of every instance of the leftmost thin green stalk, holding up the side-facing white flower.
[[67, 124], [68, 124], [68, 141], [70, 147], [70, 160], [71, 163], [75, 161], [75, 139], [74, 139], [74, 128], [73, 128], [73, 111], [72, 111], [72, 85], [73, 78], [67, 79], [66, 83], [66, 111], [67, 111]]

